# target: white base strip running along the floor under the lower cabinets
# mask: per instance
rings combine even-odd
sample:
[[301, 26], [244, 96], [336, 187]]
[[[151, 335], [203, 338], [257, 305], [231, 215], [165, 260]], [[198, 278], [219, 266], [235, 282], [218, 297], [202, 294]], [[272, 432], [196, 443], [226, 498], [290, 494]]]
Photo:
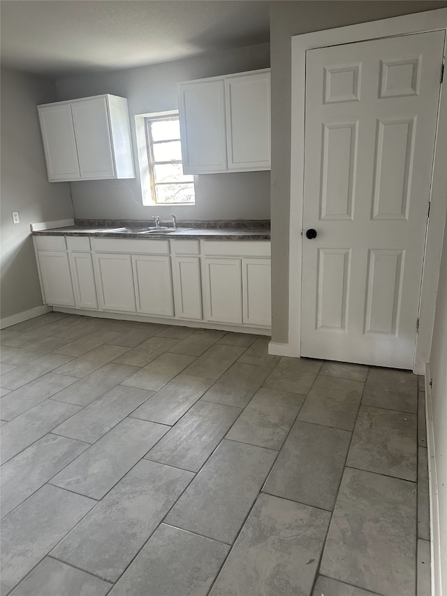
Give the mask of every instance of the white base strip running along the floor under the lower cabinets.
[[84, 308], [72, 308], [54, 306], [55, 312], [67, 312], [68, 314], [85, 314], [87, 317], [98, 317], [99, 319], [118, 319], [119, 321], [141, 321], [142, 323], [159, 323], [161, 325], [178, 325], [180, 327], [193, 327], [198, 329], [219, 329], [232, 331], [233, 333], [250, 333], [251, 335], [270, 335], [270, 329], [257, 327], [226, 325], [224, 323], [207, 323], [206, 321], [192, 321], [188, 319], [168, 319], [165, 317], [150, 317], [137, 312], [110, 312], [105, 310], [87, 310]]

